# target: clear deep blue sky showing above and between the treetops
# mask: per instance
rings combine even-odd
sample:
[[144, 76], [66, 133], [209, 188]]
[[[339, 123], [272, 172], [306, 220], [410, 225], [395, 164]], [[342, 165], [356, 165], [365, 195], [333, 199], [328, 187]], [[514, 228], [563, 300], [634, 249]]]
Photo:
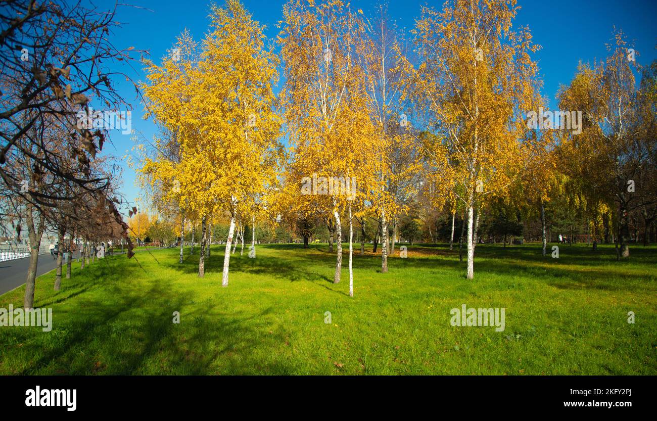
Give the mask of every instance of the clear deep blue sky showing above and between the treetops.
[[[278, 33], [276, 24], [283, 18], [284, 1], [242, 0], [254, 18], [267, 25], [267, 36], [273, 38]], [[114, 1], [95, 1], [99, 8], [110, 8]], [[195, 39], [202, 39], [208, 28], [208, 9], [210, 1], [205, 0], [131, 0], [136, 7], [120, 7], [116, 16], [122, 27], [112, 33], [112, 42], [118, 48], [135, 47], [147, 50], [154, 60], [159, 60], [171, 47], [175, 37], [189, 28]], [[221, 5], [221, 1], [217, 1]], [[352, 0], [352, 7], [371, 10], [377, 0]], [[388, 10], [396, 18], [397, 25], [405, 30], [413, 27], [419, 17], [420, 6], [429, 5], [440, 8], [440, 1], [389, 0]], [[556, 106], [555, 95], [559, 85], [570, 82], [576, 72], [578, 62], [593, 62], [604, 59], [604, 44], [610, 41], [614, 26], [623, 30], [629, 41], [635, 42], [637, 62], [648, 64], [656, 58], [657, 30], [653, 22], [657, 16], [657, 1], [654, 0], [519, 0], [522, 7], [514, 25], [530, 26], [533, 41], [543, 48], [535, 55], [543, 78], [543, 96]], [[143, 80], [141, 63], [135, 60], [133, 68], [121, 69], [135, 81]], [[118, 68], [117, 68], [118, 70]], [[152, 139], [155, 127], [143, 120], [143, 107], [130, 83], [116, 79], [118, 89], [125, 99], [133, 104], [132, 128], [141, 135]], [[118, 157], [118, 164], [124, 168], [122, 192], [129, 201], [139, 198], [139, 188], [135, 187], [135, 173], [125, 165], [124, 156], [134, 145], [130, 135], [122, 135], [114, 130], [110, 133], [111, 144], [104, 147], [103, 153]]]

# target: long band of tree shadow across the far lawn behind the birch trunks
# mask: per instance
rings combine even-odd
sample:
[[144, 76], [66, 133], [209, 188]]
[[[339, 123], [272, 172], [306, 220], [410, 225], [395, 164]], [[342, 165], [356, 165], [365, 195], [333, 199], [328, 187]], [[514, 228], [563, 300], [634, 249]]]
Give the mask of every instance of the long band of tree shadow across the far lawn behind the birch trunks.
[[[321, 265], [322, 268], [330, 270], [335, 265], [334, 254], [324, 254], [319, 247], [312, 245], [306, 252], [300, 253], [302, 244], [267, 244], [264, 248], [290, 251], [297, 250], [290, 259], [279, 259], [277, 257], [258, 257], [249, 259], [246, 255], [240, 256], [238, 252], [231, 255], [231, 273], [242, 272], [254, 275], [263, 275], [270, 278], [281, 278], [297, 282], [307, 280], [309, 282], [332, 284], [332, 278], [321, 275], [319, 271], [309, 268]], [[457, 271], [460, 277], [465, 279], [466, 261], [459, 261], [458, 251], [447, 250], [449, 246], [443, 244], [446, 250], [436, 250], [440, 244], [430, 245], [429, 255], [424, 255], [426, 245], [411, 246], [408, 250], [409, 257], [400, 258], [391, 256], [388, 260], [390, 271], [403, 271], [404, 269], [440, 269], [444, 271]], [[633, 250], [633, 258], [629, 261], [615, 261], [615, 250], [608, 245], [600, 246], [598, 252], [592, 252], [583, 246], [563, 245], [562, 255], [559, 259], [551, 257], [550, 248], [548, 254], [543, 256], [541, 244], [529, 244], [524, 246], [479, 245], [475, 255], [475, 278], [478, 275], [497, 275], [509, 277], [529, 277], [541, 280], [555, 288], [560, 289], [592, 289], [592, 290], [651, 290], [649, 281], [654, 275], [644, 275], [639, 271], [631, 273], [629, 269], [639, 265], [657, 263], [654, 248], [639, 248]], [[417, 257], [412, 257], [413, 254]], [[453, 255], [449, 255], [449, 254]], [[438, 256], [438, 258], [436, 258]], [[215, 255], [214, 259], [206, 261], [206, 272], [220, 273], [223, 270], [223, 259]], [[343, 259], [348, 257], [344, 251]], [[183, 265], [168, 263], [169, 267], [185, 273], [198, 272], [198, 260], [185, 261]], [[602, 267], [600, 267], [602, 266]], [[354, 254], [354, 269], [366, 271], [380, 271], [380, 255]], [[625, 270], [627, 268], [627, 270]], [[207, 275], [206, 275], [207, 276]], [[623, 282], [620, 282], [623, 278]], [[328, 288], [332, 290], [332, 288]], [[332, 290], [334, 291], [334, 290]], [[342, 293], [342, 292], [341, 292]], [[342, 293], [344, 294], [344, 293]]]

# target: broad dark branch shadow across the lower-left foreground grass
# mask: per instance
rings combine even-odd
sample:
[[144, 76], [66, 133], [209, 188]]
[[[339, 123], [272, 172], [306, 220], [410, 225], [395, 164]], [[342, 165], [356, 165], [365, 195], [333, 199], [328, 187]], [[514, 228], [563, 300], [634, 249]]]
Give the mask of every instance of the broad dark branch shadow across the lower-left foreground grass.
[[[130, 282], [135, 270], [141, 271], [128, 265], [85, 269], [86, 277], [67, 286], [73, 294], [60, 292], [44, 301], [54, 304], [51, 332], [38, 328], [1, 332], [18, 336], [10, 341], [15, 345], [3, 345], [5, 361], [27, 361], [18, 365], [15, 374], [294, 371], [290, 365], [256, 355], [259, 349], [275, 350], [285, 342], [284, 330], [267, 333], [271, 308], [235, 313], [219, 306], [190, 305], [196, 297], [174, 289], [175, 280]], [[109, 273], [114, 277], [110, 282], [104, 277]], [[122, 282], [114, 282], [117, 278]], [[72, 301], [58, 305], [67, 298]], [[173, 311], [181, 313], [179, 324], [173, 323]], [[9, 339], [0, 335], [3, 343]]]

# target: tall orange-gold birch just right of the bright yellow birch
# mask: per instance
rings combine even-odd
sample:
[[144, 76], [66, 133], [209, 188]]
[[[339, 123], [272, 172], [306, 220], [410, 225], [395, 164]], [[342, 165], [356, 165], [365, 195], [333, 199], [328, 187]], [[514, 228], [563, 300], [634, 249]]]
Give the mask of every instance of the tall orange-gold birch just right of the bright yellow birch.
[[[294, 160], [303, 163], [305, 177], [351, 177], [344, 171], [349, 149], [340, 134], [353, 122], [345, 112], [350, 88], [362, 81], [354, 70], [355, 45], [363, 32], [357, 14], [340, 0], [292, 0], [283, 7], [278, 42], [286, 83], [281, 98]], [[317, 197], [335, 221], [334, 283], [342, 273], [341, 199], [336, 194]]]

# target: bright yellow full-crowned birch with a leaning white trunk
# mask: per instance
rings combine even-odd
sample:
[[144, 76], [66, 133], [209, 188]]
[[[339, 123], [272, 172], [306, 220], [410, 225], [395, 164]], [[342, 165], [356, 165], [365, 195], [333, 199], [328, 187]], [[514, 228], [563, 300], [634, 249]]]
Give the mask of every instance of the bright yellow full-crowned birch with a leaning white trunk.
[[[230, 220], [221, 284], [228, 286], [231, 244], [239, 215], [275, 183], [279, 120], [272, 86], [277, 57], [262, 26], [237, 0], [213, 6], [198, 64], [150, 64], [145, 95], [156, 119], [177, 133], [181, 159], [145, 160], [141, 172], [175, 194], [187, 218]], [[175, 183], [177, 181], [177, 183]], [[199, 262], [201, 264], [201, 261]]]

